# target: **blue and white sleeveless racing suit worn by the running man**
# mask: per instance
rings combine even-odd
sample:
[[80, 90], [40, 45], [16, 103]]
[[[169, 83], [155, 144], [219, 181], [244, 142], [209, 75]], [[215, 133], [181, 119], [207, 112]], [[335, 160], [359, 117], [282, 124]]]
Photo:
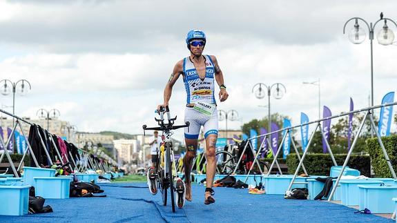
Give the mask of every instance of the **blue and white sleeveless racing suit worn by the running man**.
[[214, 96], [214, 75], [215, 68], [209, 55], [203, 55], [206, 64], [206, 75], [200, 79], [197, 70], [190, 57], [184, 58], [183, 76], [186, 90], [186, 104], [208, 104], [215, 106], [212, 114], [204, 114], [191, 107], [185, 109], [185, 122], [190, 122], [190, 126], [185, 128], [186, 139], [198, 139], [200, 128], [204, 126], [204, 137], [210, 134], [217, 135], [217, 110]]

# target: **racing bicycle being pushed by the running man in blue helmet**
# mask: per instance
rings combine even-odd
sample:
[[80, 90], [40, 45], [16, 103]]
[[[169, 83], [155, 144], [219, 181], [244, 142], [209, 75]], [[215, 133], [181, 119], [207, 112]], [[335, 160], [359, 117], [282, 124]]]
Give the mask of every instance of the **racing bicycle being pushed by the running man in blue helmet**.
[[[153, 168], [149, 168], [148, 170], [148, 180], [153, 180], [154, 186], [156, 186], [156, 193], [157, 193], [157, 188], [159, 191], [162, 193], [162, 201], [164, 206], [167, 205], [167, 191], [168, 188], [170, 189], [170, 195], [171, 195], [171, 206], [173, 209], [173, 212], [175, 213], [175, 192], [180, 195], [178, 197], [177, 201], [177, 206], [179, 208], [182, 208], [184, 204], [184, 193], [185, 193], [185, 188], [184, 188], [184, 183], [182, 180], [179, 182], [177, 181], [177, 185], [174, 185], [174, 178], [176, 177], [173, 175], [173, 168], [172, 168], [172, 163], [171, 163], [171, 155], [173, 156], [173, 144], [171, 142], [171, 135], [173, 133], [171, 130], [175, 130], [178, 128], [188, 128], [189, 122], [186, 122], [182, 126], [174, 126], [174, 122], [177, 119], [171, 118], [170, 115], [170, 110], [168, 106], [166, 106], [165, 110], [163, 107], [160, 107], [160, 110], [157, 111], [159, 113], [160, 119], [155, 118], [155, 121], [157, 124], [159, 124], [159, 127], [151, 127], [148, 128], [146, 125], [143, 126], [144, 128], [144, 135], [145, 135], [145, 130], [161, 130], [162, 131], [162, 139], [164, 140], [164, 147], [163, 149], [160, 148], [160, 155], [157, 153], [157, 164], [155, 166], [154, 171], [151, 171], [152, 173], [149, 173], [150, 170], [153, 170]], [[167, 115], [168, 119], [168, 124], [164, 123], [164, 113]], [[175, 161], [175, 159], [173, 159]], [[154, 172], [154, 173], [153, 173]], [[176, 174], [176, 173], [175, 173]], [[182, 182], [182, 184], [181, 184]], [[151, 184], [153, 186], [153, 183]], [[149, 188], [151, 190], [151, 188]], [[182, 198], [181, 198], [182, 197]], [[182, 199], [182, 200], [181, 200]], [[182, 204], [182, 205], [180, 205]]]

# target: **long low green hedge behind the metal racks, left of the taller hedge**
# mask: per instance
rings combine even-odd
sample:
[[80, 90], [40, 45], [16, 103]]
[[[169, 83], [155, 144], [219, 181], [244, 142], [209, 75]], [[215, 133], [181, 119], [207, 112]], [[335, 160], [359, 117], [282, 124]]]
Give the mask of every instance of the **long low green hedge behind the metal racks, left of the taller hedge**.
[[[300, 155], [302, 157], [302, 154]], [[345, 162], [347, 154], [335, 154], [336, 163], [339, 166], [342, 166]], [[287, 166], [289, 174], [294, 174], [296, 168], [299, 164], [298, 156], [293, 153], [287, 156]], [[309, 175], [329, 175], [329, 171], [331, 170], [331, 166], [333, 166], [333, 162], [331, 156], [329, 154], [322, 153], [312, 153], [307, 154], [304, 158], [304, 167]], [[369, 155], [351, 155], [347, 166], [350, 168], [355, 168], [360, 171], [361, 175], [365, 175], [370, 177], [371, 175], [371, 161]], [[300, 173], [303, 173], [303, 169], [300, 168]]]

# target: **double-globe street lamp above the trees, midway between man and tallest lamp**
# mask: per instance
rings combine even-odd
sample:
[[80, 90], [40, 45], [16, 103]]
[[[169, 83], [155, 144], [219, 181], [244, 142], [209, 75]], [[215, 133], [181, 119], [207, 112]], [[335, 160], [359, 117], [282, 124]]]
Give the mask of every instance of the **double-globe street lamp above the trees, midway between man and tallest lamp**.
[[[256, 88], [256, 86], [259, 86], [258, 88]], [[266, 95], [264, 93], [264, 88], [266, 88], [267, 90], [267, 108], [268, 108], [268, 121], [269, 121], [269, 133], [271, 132], [271, 120], [270, 120], [270, 96], [272, 95], [272, 89], [275, 88], [273, 90], [273, 97], [275, 99], [281, 99], [285, 93], [287, 93], [287, 89], [285, 88], [285, 86], [281, 83], [275, 83], [271, 86], [267, 86], [266, 84], [263, 83], [257, 83], [253, 86], [252, 88], [252, 93], [254, 93], [255, 90], [255, 97], [258, 99], [263, 99]]]

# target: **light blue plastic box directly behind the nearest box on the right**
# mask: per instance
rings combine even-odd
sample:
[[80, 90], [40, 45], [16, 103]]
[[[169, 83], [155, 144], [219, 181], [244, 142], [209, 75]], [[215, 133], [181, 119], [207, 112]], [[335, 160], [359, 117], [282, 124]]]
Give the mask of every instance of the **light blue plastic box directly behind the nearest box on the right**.
[[360, 190], [358, 185], [380, 186], [380, 180], [340, 180], [341, 201], [343, 205], [353, 206], [360, 204]]

